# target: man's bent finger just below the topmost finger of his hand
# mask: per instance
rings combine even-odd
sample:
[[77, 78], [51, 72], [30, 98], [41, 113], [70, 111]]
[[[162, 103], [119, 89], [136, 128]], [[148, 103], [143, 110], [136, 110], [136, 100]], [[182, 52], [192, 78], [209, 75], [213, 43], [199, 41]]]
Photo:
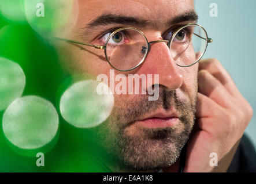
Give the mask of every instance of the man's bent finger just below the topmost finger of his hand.
[[198, 72], [198, 92], [213, 99], [224, 108], [232, 107], [232, 97], [225, 87], [207, 70]]

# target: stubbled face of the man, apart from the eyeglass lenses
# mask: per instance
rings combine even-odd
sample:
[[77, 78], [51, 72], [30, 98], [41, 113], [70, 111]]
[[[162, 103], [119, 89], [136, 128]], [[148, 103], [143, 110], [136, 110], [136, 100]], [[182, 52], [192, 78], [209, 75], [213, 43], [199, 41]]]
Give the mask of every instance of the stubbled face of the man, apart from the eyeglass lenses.
[[[113, 28], [138, 28], [150, 42], [164, 40], [164, 33], [174, 25], [196, 21], [192, 0], [78, 0], [77, 8], [75, 26], [65, 37], [93, 45], [102, 45], [102, 37]], [[95, 21], [103, 15], [112, 18]], [[113, 69], [103, 50], [74, 44], [64, 44], [61, 49], [64, 66], [72, 74], [109, 76]], [[189, 56], [183, 59], [192, 60]], [[166, 43], [152, 44], [146, 60], [135, 70], [115, 71], [115, 75], [125, 76], [159, 74], [159, 98], [149, 101], [149, 95], [115, 94], [112, 113], [97, 131], [106, 151], [136, 170], [156, 170], [175, 163], [194, 125], [197, 72], [198, 64], [177, 66]]]

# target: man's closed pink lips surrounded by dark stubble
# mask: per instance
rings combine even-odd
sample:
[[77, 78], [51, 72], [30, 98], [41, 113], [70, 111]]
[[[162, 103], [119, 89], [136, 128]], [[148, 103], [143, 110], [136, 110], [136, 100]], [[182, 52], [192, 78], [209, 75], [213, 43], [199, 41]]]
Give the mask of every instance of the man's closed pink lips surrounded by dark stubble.
[[174, 127], [179, 123], [179, 114], [172, 113], [155, 113], [147, 118], [136, 121], [135, 124], [145, 128], [166, 128]]

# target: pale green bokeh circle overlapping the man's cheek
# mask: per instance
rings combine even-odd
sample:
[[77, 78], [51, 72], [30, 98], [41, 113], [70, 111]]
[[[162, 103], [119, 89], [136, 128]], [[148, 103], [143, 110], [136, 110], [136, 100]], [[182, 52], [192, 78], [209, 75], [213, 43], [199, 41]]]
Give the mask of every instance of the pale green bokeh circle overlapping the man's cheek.
[[114, 97], [113, 94], [98, 94], [98, 84], [92, 80], [77, 82], [62, 95], [60, 111], [69, 124], [77, 128], [90, 128], [109, 117]]

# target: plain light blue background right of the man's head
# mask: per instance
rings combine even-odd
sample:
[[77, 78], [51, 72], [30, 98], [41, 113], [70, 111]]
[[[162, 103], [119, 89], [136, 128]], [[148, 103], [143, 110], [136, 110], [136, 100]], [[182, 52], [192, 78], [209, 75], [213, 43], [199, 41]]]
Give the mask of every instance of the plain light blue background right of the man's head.
[[[210, 17], [211, 3], [217, 3], [218, 17]], [[213, 39], [204, 58], [220, 60], [254, 109], [246, 133], [256, 145], [256, 1], [195, 0], [195, 9], [198, 23]]]

